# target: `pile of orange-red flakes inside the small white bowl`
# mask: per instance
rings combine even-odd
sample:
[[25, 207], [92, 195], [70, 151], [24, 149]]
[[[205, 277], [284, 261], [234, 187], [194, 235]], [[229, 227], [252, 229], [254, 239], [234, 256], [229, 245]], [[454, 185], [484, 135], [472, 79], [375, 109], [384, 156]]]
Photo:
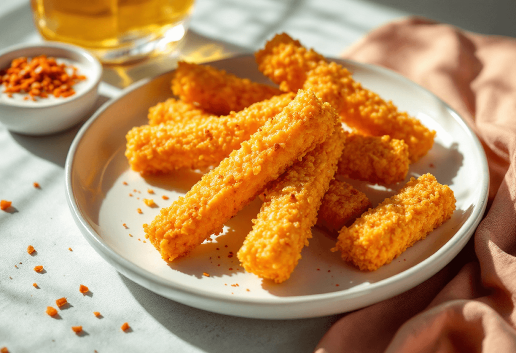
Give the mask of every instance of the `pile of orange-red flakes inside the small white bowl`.
[[46, 55], [32, 60], [25, 57], [14, 59], [10, 68], [0, 71], [0, 84], [3, 83], [5, 93], [25, 92], [33, 100], [38, 96], [47, 98], [49, 94], [55, 97], [71, 96], [75, 94], [72, 86], [85, 79], [86, 76], [77, 75], [75, 66], [58, 64], [55, 58], [47, 58]]

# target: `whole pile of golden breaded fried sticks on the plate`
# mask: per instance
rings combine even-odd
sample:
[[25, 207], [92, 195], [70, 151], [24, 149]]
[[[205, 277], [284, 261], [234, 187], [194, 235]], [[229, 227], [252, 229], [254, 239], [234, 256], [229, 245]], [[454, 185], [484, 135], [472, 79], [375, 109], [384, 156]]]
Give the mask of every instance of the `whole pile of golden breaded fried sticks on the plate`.
[[434, 131], [284, 33], [255, 57], [280, 90], [181, 62], [172, 81], [180, 100], [152, 107], [149, 125], [127, 133], [126, 157], [143, 175], [216, 166], [143, 225], [163, 259], [220, 233], [259, 194], [264, 203], [237, 257], [278, 283], [294, 271], [316, 222], [339, 231], [332, 250], [372, 271], [451, 216], [453, 192], [430, 174], [369, 210], [363, 193], [334, 179], [402, 181]]

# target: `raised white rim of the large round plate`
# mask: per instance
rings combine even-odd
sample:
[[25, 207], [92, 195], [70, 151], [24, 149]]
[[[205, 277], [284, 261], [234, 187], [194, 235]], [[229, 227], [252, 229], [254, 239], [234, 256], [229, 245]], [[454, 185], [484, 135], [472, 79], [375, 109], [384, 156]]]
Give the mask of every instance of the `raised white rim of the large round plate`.
[[[246, 57], [253, 57], [252, 54], [242, 54], [233, 56], [230, 58], [224, 58], [221, 60], [215, 60], [210, 62], [204, 62], [202, 64], [214, 64], [214, 63], [223, 63], [224, 61], [232, 61], [235, 59], [241, 59]], [[390, 276], [388, 278], [384, 278], [382, 280], [379, 280], [378, 282], [370, 283], [367, 287], [368, 292], [381, 290], [381, 288], [385, 287], [386, 285], [389, 285], [391, 282], [399, 283], [401, 285], [398, 286], [396, 290], [390, 289], [390, 294], [386, 296], [382, 296], [381, 300], [388, 299], [390, 297], [393, 297], [395, 295], [398, 295], [402, 292], [407, 291], [410, 288], [416, 287], [416, 285], [421, 284], [422, 282], [426, 281], [430, 277], [432, 277], [434, 274], [439, 272], [445, 265], [447, 265], [451, 259], [455, 258], [457, 254], [462, 250], [462, 248], [465, 246], [465, 244], [469, 241], [472, 234], [475, 232], [476, 227], [480, 223], [482, 219], [482, 215], [486, 210], [487, 203], [488, 203], [488, 195], [489, 195], [489, 168], [487, 163], [487, 157], [485, 154], [485, 151], [483, 150], [483, 147], [481, 146], [480, 141], [478, 140], [478, 137], [475, 135], [473, 130], [466, 124], [464, 119], [458, 114], [453, 108], [451, 108], [446, 102], [444, 102], [441, 98], [439, 98], [436, 94], [430, 92], [426, 88], [424, 88], [421, 85], [418, 85], [416, 82], [410, 80], [409, 78], [402, 76], [390, 69], [383, 68], [382, 66], [373, 65], [373, 64], [366, 64], [366, 63], [360, 63], [357, 61], [349, 60], [349, 59], [342, 59], [342, 58], [328, 58], [328, 60], [335, 61], [340, 64], [352, 64], [356, 66], [362, 66], [363, 68], [369, 70], [369, 71], [379, 71], [384, 75], [388, 75], [390, 77], [395, 78], [396, 80], [404, 81], [404, 83], [414, 86], [418, 90], [423, 90], [426, 94], [431, 95], [434, 99], [437, 99], [449, 112], [450, 115], [453, 116], [453, 119], [462, 127], [462, 129], [467, 132], [467, 135], [471, 138], [475, 145], [475, 149], [477, 150], [478, 154], [480, 155], [480, 164], [482, 169], [482, 185], [480, 190], [480, 200], [479, 205], [474, 207], [473, 212], [471, 215], [466, 219], [466, 221], [460, 226], [460, 228], [457, 230], [457, 232], [454, 234], [452, 238], [450, 238], [441, 248], [439, 248], [435, 253], [430, 255], [428, 258], [424, 259], [420, 263], [417, 263], [416, 265], [408, 268], [405, 271], [402, 271], [400, 273], [397, 273], [393, 276]], [[99, 253], [109, 264], [114, 266], [116, 270], [124, 275], [127, 275], [130, 279], [134, 280], [137, 283], [140, 283], [139, 279], [147, 279], [149, 282], [153, 282], [154, 284], [159, 285], [160, 287], [164, 287], [168, 290], [178, 292], [180, 294], [188, 294], [192, 297], [198, 297], [198, 298], [204, 298], [208, 300], [215, 300], [219, 302], [226, 302], [231, 304], [240, 304], [240, 305], [253, 305], [253, 306], [284, 306], [288, 304], [309, 304], [313, 303], [319, 300], [324, 301], [334, 301], [334, 300], [346, 300], [346, 299], [353, 299], [356, 298], [359, 294], [364, 292], [364, 288], [350, 288], [345, 289], [342, 291], [335, 291], [330, 293], [318, 293], [318, 294], [309, 294], [309, 295], [296, 295], [296, 296], [281, 296], [281, 297], [272, 297], [272, 298], [256, 298], [256, 297], [250, 297], [250, 298], [242, 298], [242, 297], [229, 297], [226, 294], [222, 293], [213, 293], [213, 292], [207, 292], [207, 291], [200, 291], [199, 289], [193, 290], [193, 288], [185, 285], [179, 285], [178, 283], [171, 283], [170, 281], [163, 279], [144, 268], [139, 267], [138, 265], [132, 263], [131, 261], [123, 258], [121, 255], [117, 254], [116, 251], [111, 249], [107, 243], [105, 243], [102, 238], [100, 237], [100, 234], [98, 234], [91, 225], [86, 221], [84, 216], [82, 215], [82, 212], [80, 212], [80, 208], [76, 202], [76, 199], [73, 194], [73, 186], [72, 186], [72, 172], [73, 172], [73, 166], [74, 166], [74, 156], [77, 151], [77, 147], [82, 141], [82, 138], [85, 136], [86, 132], [89, 130], [89, 128], [93, 125], [93, 123], [99, 119], [103, 115], [103, 112], [108, 109], [112, 104], [117, 102], [118, 100], [123, 99], [127, 94], [130, 92], [133, 92], [137, 90], [138, 88], [147, 85], [151, 81], [165, 75], [170, 75], [174, 70], [167, 71], [165, 73], [162, 73], [160, 75], [144, 78], [141, 79], [133, 85], [126, 87], [123, 89], [120, 94], [114, 98], [109, 99], [106, 103], [104, 103], [98, 110], [95, 111], [95, 113], [86, 121], [86, 123], [79, 129], [77, 132], [75, 138], [72, 141], [72, 144], [70, 146], [66, 163], [65, 163], [65, 187], [66, 187], [66, 198], [67, 203], [70, 208], [70, 211], [72, 213], [72, 216], [74, 218], [75, 223], [77, 224], [79, 230], [83, 233], [83, 236], [86, 238], [88, 243], [95, 249], [97, 253]], [[460, 233], [460, 236], [458, 235]], [[449, 260], [448, 260], [449, 258]], [[437, 266], [428, 266], [430, 263], [438, 263]], [[412, 285], [405, 282], [411, 282], [409, 279], [413, 279], [413, 277], [420, 273], [420, 275], [425, 274], [423, 277], [423, 280], [417, 280], [417, 284]], [[138, 278], [134, 279], [132, 275], [135, 275]], [[142, 285], [140, 283], [140, 285]], [[156, 289], [150, 289], [150, 286], [142, 285], [143, 287], [160, 294], [159, 292], [156, 292]], [[165, 296], [164, 294], [160, 294]], [[176, 299], [173, 299], [176, 300]], [[374, 304], [376, 302], [379, 302], [381, 300], [372, 300], [369, 301], [368, 304]], [[177, 300], [179, 301], [179, 300]], [[189, 304], [188, 304], [189, 305]], [[360, 306], [359, 308], [364, 307], [365, 305]], [[358, 308], [357, 308], [358, 309]], [[209, 311], [215, 311], [211, 309], [205, 309]], [[330, 310], [331, 313], [341, 313], [345, 312], [343, 310]], [[259, 317], [254, 315], [245, 315], [245, 314], [235, 314], [235, 313], [228, 313], [227, 311], [218, 311], [220, 313], [234, 315], [234, 316], [245, 316], [245, 317]], [[330, 314], [331, 314], [330, 313]], [[284, 315], [282, 317], [271, 317], [271, 316], [260, 316], [263, 318], [301, 318], [301, 317], [317, 317], [317, 316], [324, 316], [328, 315], [328, 313], [322, 313], [322, 314], [313, 314], [313, 315]]]

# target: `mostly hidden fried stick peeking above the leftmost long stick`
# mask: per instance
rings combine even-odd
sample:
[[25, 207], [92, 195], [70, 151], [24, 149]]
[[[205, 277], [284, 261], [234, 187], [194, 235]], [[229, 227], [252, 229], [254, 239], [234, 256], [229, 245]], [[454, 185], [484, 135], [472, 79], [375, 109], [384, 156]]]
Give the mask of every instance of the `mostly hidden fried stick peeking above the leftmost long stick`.
[[149, 108], [149, 125], [159, 125], [167, 122], [186, 122], [192, 119], [203, 119], [214, 116], [193, 104], [169, 98]]

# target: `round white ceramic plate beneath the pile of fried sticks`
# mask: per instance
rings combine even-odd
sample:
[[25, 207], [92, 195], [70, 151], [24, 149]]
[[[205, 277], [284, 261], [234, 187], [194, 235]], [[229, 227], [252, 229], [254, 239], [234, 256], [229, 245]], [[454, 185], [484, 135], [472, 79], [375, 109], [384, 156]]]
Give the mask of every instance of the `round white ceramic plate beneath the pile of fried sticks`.
[[[147, 207], [143, 198], [154, 199], [159, 207], [168, 206], [186, 193], [201, 174], [182, 170], [144, 179], [130, 170], [124, 150], [126, 131], [146, 124], [148, 108], [171, 96], [170, 72], [139, 82], [106, 103], [72, 143], [66, 164], [67, 196], [88, 242], [120, 273], [153, 292], [192, 307], [255, 318], [346, 312], [407, 291], [437, 273], [464, 247], [486, 208], [489, 174], [483, 149], [456, 112], [410, 80], [375, 66], [335, 61], [347, 66], [364, 87], [392, 99], [401, 110], [437, 131], [434, 147], [411, 165], [407, 180], [432, 173], [455, 192], [457, 210], [425, 240], [391, 264], [369, 273], [331, 253], [335, 241], [314, 229], [310, 246], [303, 249], [291, 278], [275, 284], [244, 272], [236, 256], [232, 256], [260, 209], [260, 201], [254, 200], [227, 223], [215, 241], [205, 242], [188, 257], [166, 263], [149, 242], [144, 242], [142, 224], [150, 223], [159, 208]], [[267, 82], [251, 55], [211, 65]], [[352, 184], [376, 206], [405, 183], [388, 187], [354, 181]], [[169, 199], [162, 199], [163, 195]], [[143, 213], [137, 213], [137, 208]]]

